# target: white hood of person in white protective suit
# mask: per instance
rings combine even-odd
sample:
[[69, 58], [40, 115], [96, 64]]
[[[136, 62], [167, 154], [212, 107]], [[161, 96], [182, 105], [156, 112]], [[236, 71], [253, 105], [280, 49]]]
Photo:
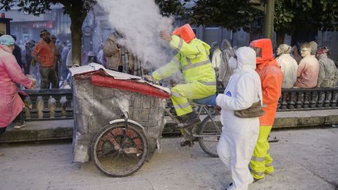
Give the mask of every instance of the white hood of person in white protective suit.
[[236, 51], [237, 56], [237, 68], [235, 72], [238, 72], [242, 69], [256, 69], [256, 51], [250, 47], [240, 47]]

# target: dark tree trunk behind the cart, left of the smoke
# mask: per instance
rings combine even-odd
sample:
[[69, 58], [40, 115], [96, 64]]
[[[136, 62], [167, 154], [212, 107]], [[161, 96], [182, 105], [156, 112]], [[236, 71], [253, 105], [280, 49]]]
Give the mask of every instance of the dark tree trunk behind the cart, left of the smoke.
[[77, 3], [70, 8], [70, 31], [72, 35], [72, 63], [81, 65], [81, 47], [82, 47], [82, 24], [87, 13], [82, 13], [82, 4]]

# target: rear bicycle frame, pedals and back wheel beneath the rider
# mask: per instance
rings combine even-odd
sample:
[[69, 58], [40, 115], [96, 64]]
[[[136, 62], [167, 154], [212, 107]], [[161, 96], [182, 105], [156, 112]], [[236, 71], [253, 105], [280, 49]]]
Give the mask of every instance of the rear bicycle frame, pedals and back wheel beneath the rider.
[[[218, 153], [216, 148], [222, 132], [222, 125], [220, 123], [220, 113], [215, 113], [213, 111], [215, 106], [215, 95], [205, 99], [194, 100], [194, 102], [191, 102], [190, 104], [193, 106], [193, 110], [197, 113], [199, 118], [203, 115], [206, 115], [206, 118], [198, 125], [192, 125], [191, 127], [184, 129], [184, 132], [187, 132], [191, 137], [197, 138], [199, 146], [201, 146], [202, 150], [207, 153], [208, 156], [217, 158]], [[178, 125], [182, 120], [175, 113], [172, 113], [173, 111], [170, 112], [170, 110], [173, 110], [173, 105], [168, 105], [168, 108], [165, 109], [165, 113]]]

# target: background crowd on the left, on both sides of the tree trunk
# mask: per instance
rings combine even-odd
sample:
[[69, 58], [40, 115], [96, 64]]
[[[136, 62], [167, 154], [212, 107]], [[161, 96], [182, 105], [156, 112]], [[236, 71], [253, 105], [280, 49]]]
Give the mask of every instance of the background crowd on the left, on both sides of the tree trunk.
[[[69, 68], [74, 65], [72, 44], [58, 40], [56, 35], [47, 30], [42, 30], [40, 37], [39, 42], [27, 40], [22, 47], [15, 44], [13, 55], [25, 75], [31, 75], [37, 80], [36, 89], [64, 88], [63, 84], [70, 84]], [[118, 44], [120, 37], [123, 36], [114, 32], [99, 44], [96, 52], [84, 51], [82, 47], [81, 65], [99, 63], [107, 69], [123, 72], [123, 65], [127, 62], [126, 72], [137, 74], [134, 72], [135, 58], [124, 46]]]

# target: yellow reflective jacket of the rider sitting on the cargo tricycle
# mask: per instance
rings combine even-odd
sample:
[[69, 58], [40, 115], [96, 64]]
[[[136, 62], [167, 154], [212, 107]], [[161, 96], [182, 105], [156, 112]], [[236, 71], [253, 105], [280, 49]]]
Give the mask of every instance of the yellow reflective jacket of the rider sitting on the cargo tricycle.
[[199, 81], [216, 87], [215, 70], [208, 58], [210, 46], [199, 39], [193, 39], [187, 44], [176, 35], [172, 38], [170, 46], [178, 53], [169, 63], [155, 70], [153, 77], [162, 80], [182, 70], [185, 82]]

